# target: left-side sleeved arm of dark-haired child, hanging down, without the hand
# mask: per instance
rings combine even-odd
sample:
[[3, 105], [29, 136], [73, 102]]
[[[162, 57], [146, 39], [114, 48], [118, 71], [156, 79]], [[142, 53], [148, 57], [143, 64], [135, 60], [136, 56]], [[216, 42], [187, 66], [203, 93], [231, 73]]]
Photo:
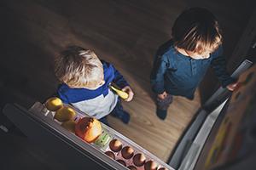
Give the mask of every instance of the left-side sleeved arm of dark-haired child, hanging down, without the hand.
[[166, 73], [167, 64], [168, 61], [166, 59], [166, 55], [159, 56], [154, 61], [153, 70], [150, 74], [150, 83], [152, 90], [156, 94], [163, 94], [166, 91], [164, 75]]

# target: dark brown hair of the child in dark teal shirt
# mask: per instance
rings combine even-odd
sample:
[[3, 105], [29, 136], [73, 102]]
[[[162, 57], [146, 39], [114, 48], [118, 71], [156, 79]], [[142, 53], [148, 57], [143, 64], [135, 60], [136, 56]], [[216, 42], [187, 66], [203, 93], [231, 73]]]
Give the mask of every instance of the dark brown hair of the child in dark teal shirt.
[[214, 51], [222, 43], [218, 21], [206, 8], [189, 8], [183, 11], [172, 26], [174, 46], [204, 53]]

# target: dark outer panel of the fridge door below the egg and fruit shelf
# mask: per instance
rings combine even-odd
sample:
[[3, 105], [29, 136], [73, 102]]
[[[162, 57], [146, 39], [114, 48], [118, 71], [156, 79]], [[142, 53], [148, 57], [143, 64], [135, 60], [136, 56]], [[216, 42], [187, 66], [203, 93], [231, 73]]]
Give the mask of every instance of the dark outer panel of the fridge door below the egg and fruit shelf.
[[32, 114], [20, 105], [6, 105], [3, 113], [65, 169], [127, 169], [44, 115]]

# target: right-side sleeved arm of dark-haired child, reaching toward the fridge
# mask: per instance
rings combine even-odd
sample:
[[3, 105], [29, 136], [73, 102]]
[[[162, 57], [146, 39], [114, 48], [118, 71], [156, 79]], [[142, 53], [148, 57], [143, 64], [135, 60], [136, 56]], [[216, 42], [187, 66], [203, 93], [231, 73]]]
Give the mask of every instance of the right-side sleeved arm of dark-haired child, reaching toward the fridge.
[[212, 57], [213, 59], [212, 59], [211, 65], [216, 76], [221, 82], [222, 87], [227, 88], [228, 85], [234, 84], [234, 82], [236, 82], [236, 79], [230, 77], [230, 74], [226, 69], [227, 63], [226, 63], [226, 59], [224, 59], [224, 56], [223, 56], [222, 46], [219, 47], [216, 52], [214, 52]]

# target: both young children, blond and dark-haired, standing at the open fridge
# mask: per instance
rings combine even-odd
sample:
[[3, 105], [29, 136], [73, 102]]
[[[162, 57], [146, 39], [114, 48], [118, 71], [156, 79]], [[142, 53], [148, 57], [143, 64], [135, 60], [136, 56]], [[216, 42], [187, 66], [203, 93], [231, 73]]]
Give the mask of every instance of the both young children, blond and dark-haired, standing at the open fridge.
[[[150, 76], [160, 119], [166, 118], [173, 95], [194, 98], [210, 65], [223, 87], [236, 87], [236, 80], [226, 71], [221, 44], [218, 22], [207, 9], [189, 8], [177, 17], [172, 40], [157, 51]], [[55, 59], [55, 75], [61, 82], [58, 95], [64, 103], [105, 123], [109, 114], [129, 122], [130, 115], [109, 85], [113, 82], [125, 91], [129, 95], [126, 101], [133, 98], [131, 87], [113, 65], [98, 59], [94, 52], [78, 46], [65, 49]]]

